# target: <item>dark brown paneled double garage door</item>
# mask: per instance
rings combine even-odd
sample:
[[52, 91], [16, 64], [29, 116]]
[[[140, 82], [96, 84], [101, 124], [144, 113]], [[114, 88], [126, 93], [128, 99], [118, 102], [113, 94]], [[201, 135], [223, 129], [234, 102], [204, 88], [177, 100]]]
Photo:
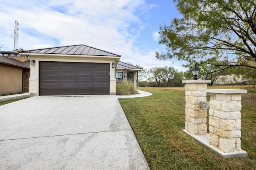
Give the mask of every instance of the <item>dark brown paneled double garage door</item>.
[[40, 61], [39, 95], [109, 94], [109, 63]]

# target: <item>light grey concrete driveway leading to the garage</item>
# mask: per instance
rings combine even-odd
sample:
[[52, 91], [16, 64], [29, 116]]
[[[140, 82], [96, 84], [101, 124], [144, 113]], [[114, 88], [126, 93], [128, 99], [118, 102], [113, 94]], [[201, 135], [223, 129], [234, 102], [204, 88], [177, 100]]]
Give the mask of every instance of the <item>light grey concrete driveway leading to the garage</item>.
[[0, 106], [0, 169], [149, 169], [116, 96]]

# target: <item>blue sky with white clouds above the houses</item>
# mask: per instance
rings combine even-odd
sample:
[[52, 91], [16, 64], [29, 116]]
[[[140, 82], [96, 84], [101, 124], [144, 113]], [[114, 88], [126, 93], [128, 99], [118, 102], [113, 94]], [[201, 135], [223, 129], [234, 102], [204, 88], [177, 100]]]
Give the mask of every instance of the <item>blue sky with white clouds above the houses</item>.
[[[1, 51], [13, 50], [14, 20], [24, 50], [84, 44], [122, 55], [121, 61], [144, 68], [173, 66], [159, 61], [160, 25], [181, 15], [172, 0], [0, 0]], [[183, 62], [184, 63], [184, 62]]]

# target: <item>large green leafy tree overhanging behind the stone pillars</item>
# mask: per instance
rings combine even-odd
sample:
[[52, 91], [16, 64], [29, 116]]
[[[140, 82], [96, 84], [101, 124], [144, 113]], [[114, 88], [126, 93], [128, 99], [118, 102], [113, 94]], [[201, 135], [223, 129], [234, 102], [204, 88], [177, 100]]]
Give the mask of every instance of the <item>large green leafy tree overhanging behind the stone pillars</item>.
[[[254, 0], [174, 0], [183, 18], [160, 26], [158, 59], [178, 59], [256, 69], [256, 3]], [[195, 57], [196, 56], [196, 57]], [[211, 59], [218, 63], [211, 63]], [[247, 62], [249, 61], [249, 62]], [[248, 64], [250, 63], [250, 64]], [[218, 70], [215, 70], [218, 71]]]

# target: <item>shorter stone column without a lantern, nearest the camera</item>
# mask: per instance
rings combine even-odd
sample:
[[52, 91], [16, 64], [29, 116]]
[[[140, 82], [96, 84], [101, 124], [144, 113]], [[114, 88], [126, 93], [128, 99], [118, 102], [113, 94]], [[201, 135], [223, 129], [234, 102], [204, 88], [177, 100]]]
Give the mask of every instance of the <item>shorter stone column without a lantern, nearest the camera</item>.
[[223, 152], [241, 150], [241, 94], [247, 90], [209, 89], [210, 145]]

